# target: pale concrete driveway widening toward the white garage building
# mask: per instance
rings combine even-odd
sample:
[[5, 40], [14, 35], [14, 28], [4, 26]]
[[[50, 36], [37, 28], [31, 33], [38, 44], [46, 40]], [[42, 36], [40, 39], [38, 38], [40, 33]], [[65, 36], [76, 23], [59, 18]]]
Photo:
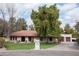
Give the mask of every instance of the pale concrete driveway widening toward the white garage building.
[[67, 42], [67, 43], [61, 43], [53, 48], [48, 48], [46, 50], [63, 50], [63, 51], [73, 51], [73, 50], [78, 50], [79, 51], [79, 46], [77, 45], [76, 42]]

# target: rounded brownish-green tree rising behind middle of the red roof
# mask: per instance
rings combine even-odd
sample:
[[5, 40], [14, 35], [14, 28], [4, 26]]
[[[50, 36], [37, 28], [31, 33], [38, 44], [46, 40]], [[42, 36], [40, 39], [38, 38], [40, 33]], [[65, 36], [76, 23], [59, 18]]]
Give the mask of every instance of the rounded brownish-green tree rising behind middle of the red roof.
[[16, 30], [19, 31], [19, 30], [26, 30], [26, 21], [24, 18], [19, 18], [16, 22]]

